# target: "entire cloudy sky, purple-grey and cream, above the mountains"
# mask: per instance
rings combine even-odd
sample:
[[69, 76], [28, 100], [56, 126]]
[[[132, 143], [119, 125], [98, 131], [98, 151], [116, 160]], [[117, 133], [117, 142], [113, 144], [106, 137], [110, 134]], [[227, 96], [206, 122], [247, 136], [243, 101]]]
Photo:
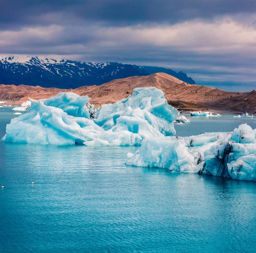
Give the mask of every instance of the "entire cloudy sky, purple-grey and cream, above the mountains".
[[0, 0], [0, 54], [154, 65], [256, 88], [256, 0]]

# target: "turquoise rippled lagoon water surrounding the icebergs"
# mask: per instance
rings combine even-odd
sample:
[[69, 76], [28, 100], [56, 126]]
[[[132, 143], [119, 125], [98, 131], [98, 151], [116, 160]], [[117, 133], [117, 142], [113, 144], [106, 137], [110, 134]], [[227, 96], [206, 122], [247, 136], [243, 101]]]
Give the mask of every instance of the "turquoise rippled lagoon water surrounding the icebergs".
[[[176, 129], [241, 121], [256, 128]], [[256, 252], [256, 182], [125, 166], [136, 149], [0, 142], [0, 252]]]

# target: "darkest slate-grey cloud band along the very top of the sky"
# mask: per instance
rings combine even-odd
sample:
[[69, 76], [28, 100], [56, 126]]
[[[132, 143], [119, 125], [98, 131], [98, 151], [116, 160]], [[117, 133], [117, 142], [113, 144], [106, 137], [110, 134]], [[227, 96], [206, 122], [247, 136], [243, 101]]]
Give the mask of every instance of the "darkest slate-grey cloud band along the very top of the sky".
[[104, 22], [177, 23], [217, 15], [254, 13], [255, 0], [1, 0], [3, 26]]

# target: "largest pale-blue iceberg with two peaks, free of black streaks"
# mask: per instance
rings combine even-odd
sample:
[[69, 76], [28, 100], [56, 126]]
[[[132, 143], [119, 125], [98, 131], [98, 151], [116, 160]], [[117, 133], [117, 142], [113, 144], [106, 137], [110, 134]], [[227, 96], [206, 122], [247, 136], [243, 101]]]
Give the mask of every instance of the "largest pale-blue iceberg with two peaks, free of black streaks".
[[[59, 93], [32, 100], [26, 114], [6, 125], [6, 142], [85, 144], [88, 146], [141, 145], [148, 137], [175, 134], [178, 111], [168, 105], [164, 93], [154, 87], [136, 88], [114, 104], [102, 105], [94, 119], [89, 97]], [[89, 107], [89, 110], [88, 110]]]

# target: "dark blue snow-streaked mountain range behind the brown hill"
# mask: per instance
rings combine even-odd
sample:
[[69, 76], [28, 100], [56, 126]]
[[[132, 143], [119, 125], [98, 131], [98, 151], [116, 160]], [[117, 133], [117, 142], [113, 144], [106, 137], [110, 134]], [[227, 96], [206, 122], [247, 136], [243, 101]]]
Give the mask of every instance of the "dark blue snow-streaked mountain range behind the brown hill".
[[119, 78], [146, 76], [157, 72], [171, 74], [184, 82], [195, 83], [185, 73], [177, 73], [167, 68], [122, 63], [54, 60], [36, 56], [0, 57], [0, 84], [77, 88], [83, 85], [101, 85]]

